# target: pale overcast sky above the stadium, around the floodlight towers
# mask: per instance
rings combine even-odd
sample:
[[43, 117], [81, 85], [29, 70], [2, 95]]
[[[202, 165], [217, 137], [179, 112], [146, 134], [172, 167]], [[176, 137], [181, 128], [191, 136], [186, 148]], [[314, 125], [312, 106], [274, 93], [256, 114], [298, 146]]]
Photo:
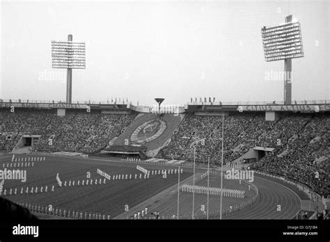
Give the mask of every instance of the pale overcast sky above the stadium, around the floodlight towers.
[[328, 0], [2, 1], [0, 98], [65, 100], [51, 40], [71, 33], [86, 42], [72, 100], [283, 101], [284, 61], [265, 61], [260, 29], [290, 13], [305, 53], [292, 61], [292, 100], [330, 99], [329, 11]]

